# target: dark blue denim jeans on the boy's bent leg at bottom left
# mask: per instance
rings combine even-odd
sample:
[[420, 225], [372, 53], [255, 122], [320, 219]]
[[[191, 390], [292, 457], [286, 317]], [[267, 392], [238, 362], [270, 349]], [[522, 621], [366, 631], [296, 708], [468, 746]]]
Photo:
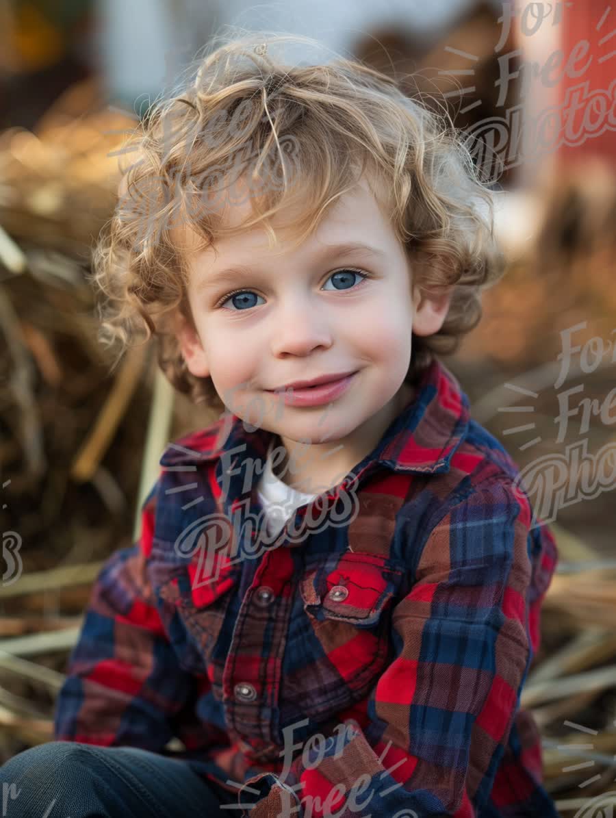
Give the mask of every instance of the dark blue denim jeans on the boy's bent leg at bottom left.
[[207, 818], [237, 802], [187, 762], [133, 747], [50, 741], [0, 767], [6, 818]]

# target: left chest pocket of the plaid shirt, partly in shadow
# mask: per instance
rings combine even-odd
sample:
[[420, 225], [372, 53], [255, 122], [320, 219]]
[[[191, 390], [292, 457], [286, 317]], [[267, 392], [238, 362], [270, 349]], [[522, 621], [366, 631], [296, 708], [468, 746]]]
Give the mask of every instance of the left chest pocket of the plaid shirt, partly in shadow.
[[[227, 609], [233, 598], [240, 576], [241, 564], [232, 563], [227, 556], [220, 555], [206, 578], [200, 568], [198, 555], [186, 566], [169, 578], [160, 587], [160, 596], [178, 613], [178, 618], [186, 630], [188, 639], [175, 641], [175, 647], [182, 667], [192, 673], [208, 674], [217, 683], [218, 673], [209, 668], [210, 663], [220, 662], [220, 671], [227, 651], [223, 632]], [[227, 623], [228, 627], [228, 623]], [[178, 632], [178, 631], [176, 631]], [[230, 636], [230, 635], [229, 635]]]

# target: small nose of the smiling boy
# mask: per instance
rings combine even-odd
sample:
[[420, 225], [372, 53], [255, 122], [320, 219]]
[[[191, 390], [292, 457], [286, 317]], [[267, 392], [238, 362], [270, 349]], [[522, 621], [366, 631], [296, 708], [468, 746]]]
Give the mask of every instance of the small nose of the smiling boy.
[[326, 311], [296, 294], [281, 303], [274, 317], [272, 354], [276, 357], [312, 353], [317, 348], [329, 348], [333, 343]]

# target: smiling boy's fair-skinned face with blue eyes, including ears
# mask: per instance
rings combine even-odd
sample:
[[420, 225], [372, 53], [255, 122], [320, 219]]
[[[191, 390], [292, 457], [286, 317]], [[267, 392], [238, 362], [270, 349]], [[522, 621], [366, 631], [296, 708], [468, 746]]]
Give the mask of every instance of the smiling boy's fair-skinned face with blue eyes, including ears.
[[[226, 218], [235, 224], [248, 215], [247, 201]], [[376, 443], [411, 394], [403, 384], [411, 330], [438, 331], [448, 298], [411, 292], [410, 263], [365, 179], [330, 206], [302, 245], [292, 246], [289, 227], [272, 224], [280, 243], [271, 250], [261, 226], [219, 240], [216, 252], [191, 250], [191, 231], [184, 232], [197, 330], [178, 325], [188, 369], [211, 376], [234, 414], [283, 440], [340, 443], [370, 429]], [[330, 249], [352, 243], [374, 253]], [[233, 290], [241, 293], [230, 296]], [[353, 373], [346, 389], [316, 406], [283, 403], [273, 391], [339, 373]]]

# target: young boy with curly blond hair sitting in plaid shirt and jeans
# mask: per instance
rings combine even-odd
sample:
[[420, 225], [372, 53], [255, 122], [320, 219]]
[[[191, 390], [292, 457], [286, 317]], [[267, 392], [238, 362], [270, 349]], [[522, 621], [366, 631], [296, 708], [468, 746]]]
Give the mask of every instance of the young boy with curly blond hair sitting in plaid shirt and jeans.
[[438, 357], [501, 275], [488, 191], [392, 80], [261, 39], [160, 103], [97, 250], [109, 337], [223, 411], [97, 578], [11, 814], [557, 816], [519, 708], [555, 542]]

